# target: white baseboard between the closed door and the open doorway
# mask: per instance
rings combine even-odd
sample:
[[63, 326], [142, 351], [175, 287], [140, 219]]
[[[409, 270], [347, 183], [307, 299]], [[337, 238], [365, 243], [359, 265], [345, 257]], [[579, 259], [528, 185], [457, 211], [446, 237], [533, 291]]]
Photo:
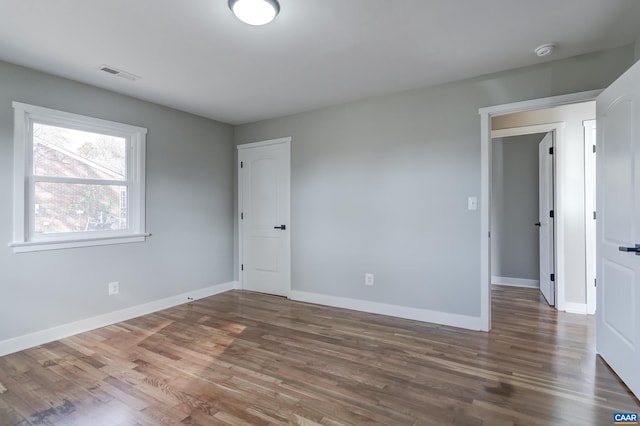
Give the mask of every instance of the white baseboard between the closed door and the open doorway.
[[410, 308], [407, 306], [388, 305], [386, 303], [370, 302], [367, 300], [329, 296], [318, 293], [307, 293], [304, 291], [295, 290], [292, 290], [289, 293], [289, 297], [292, 300], [297, 300], [299, 302], [315, 303], [318, 305], [332, 306], [335, 308], [353, 309], [355, 311], [389, 315], [392, 317], [431, 322], [434, 324], [466, 328], [469, 330], [482, 330], [482, 321], [480, 317], [430, 311], [427, 309]]

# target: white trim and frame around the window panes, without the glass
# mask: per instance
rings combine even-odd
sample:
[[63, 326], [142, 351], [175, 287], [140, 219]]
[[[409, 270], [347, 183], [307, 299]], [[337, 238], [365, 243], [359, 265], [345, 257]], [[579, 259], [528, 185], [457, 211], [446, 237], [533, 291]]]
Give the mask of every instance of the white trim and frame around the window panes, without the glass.
[[[145, 232], [145, 152], [147, 129], [129, 124], [87, 117], [69, 112], [13, 102], [13, 242], [14, 253], [141, 242]], [[32, 235], [33, 213], [33, 121], [77, 130], [121, 136], [127, 139], [128, 229], [114, 231], [69, 232]], [[58, 180], [65, 180], [60, 178]], [[77, 182], [77, 180], [74, 180]], [[93, 180], [93, 183], [108, 183]], [[122, 184], [123, 181], [115, 182]]]

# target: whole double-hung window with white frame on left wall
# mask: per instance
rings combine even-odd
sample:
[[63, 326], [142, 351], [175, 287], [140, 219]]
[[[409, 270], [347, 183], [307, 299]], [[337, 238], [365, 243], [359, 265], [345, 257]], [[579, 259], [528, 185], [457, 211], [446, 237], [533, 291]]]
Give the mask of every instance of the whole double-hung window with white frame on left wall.
[[14, 251], [144, 241], [147, 129], [13, 108]]

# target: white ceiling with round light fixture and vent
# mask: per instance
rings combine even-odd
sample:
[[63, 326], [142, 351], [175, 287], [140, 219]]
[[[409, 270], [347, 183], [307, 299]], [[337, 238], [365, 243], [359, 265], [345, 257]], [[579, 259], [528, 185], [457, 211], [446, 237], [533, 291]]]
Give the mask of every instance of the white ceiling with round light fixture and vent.
[[[633, 42], [638, 0], [0, 0], [0, 59], [232, 124]], [[533, 49], [557, 42], [550, 58]], [[131, 82], [102, 64], [141, 76]]]

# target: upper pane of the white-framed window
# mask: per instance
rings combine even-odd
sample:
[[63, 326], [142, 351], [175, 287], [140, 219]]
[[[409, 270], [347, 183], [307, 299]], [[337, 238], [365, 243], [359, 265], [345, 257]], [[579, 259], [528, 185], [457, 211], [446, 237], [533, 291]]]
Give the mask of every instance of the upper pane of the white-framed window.
[[33, 173], [124, 180], [126, 139], [33, 123]]

